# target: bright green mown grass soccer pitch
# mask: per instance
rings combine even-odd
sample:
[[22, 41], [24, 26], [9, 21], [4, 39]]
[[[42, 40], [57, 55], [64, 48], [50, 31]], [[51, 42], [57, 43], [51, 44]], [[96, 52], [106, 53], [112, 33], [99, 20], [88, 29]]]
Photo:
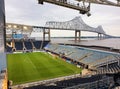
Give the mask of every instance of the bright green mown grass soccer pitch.
[[13, 85], [80, 73], [81, 69], [43, 52], [7, 55], [8, 79]]

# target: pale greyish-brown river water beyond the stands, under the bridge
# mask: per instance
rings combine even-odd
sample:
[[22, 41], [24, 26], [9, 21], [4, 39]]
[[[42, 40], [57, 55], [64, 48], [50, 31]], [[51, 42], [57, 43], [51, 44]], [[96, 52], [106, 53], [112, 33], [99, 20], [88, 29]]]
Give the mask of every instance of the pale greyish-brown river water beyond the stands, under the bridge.
[[115, 49], [120, 49], [120, 38], [109, 38], [98, 40], [96, 38], [81, 39], [80, 42], [75, 42], [73, 38], [52, 38], [52, 43], [67, 43], [87, 46], [104, 46]]

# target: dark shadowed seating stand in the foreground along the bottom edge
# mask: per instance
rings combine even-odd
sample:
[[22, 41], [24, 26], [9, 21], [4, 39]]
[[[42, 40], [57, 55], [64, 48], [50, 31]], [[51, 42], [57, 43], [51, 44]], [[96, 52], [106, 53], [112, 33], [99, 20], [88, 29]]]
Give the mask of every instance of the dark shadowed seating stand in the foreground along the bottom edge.
[[110, 80], [112, 78], [105, 75], [93, 75], [87, 78], [79, 77], [58, 81], [50, 85], [38, 85], [24, 89], [108, 89]]

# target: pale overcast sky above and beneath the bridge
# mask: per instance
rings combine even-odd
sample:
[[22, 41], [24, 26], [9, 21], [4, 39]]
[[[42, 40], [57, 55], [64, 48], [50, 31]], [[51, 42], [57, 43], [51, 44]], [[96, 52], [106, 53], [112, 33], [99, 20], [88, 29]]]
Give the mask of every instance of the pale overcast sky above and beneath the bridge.
[[[68, 21], [81, 16], [92, 27], [102, 25], [109, 35], [120, 36], [120, 7], [91, 5], [91, 16], [79, 14], [79, 11], [45, 3], [37, 0], [5, 0], [6, 22], [26, 25], [44, 26], [46, 21]], [[73, 31], [52, 31], [54, 36], [74, 36]], [[84, 35], [95, 33], [82, 32]]]

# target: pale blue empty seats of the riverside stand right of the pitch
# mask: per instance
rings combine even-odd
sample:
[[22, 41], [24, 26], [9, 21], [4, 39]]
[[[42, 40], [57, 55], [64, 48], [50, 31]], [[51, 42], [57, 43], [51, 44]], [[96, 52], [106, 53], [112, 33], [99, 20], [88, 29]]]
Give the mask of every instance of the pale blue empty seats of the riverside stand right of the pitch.
[[87, 64], [87, 65], [89, 64], [98, 65], [97, 63], [103, 62], [102, 61], [103, 59], [107, 60], [109, 56], [112, 56], [112, 54], [107, 53], [107, 52], [90, 50], [90, 49], [76, 47], [76, 46], [59, 45], [59, 44], [50, 44], [46, 48], [46, 50], [52, 51], [59, 55], [60, 53], [64, 54], [64, 56], [66, 56], [67, 58], [73, 59], [74, 61]]

